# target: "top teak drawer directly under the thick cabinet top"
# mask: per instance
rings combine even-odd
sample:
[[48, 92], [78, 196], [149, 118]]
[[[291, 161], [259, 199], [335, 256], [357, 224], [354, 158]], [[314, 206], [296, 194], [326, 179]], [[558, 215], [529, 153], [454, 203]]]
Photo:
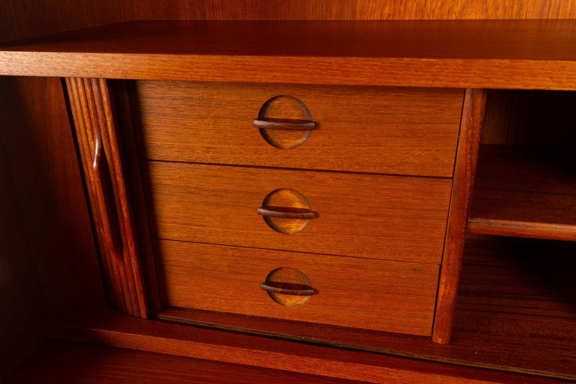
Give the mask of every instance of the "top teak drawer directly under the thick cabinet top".
[[[464, 96], [369, 86], [137, 81], [135, 88], [143, 159], [444, 177], [454, 168]], [[263, 108], [276, 96], [285, 97]], [[317, 127], [298, 148], [275, 148], [253, 125], [259, 114], [304, 118], [306, 107]]]

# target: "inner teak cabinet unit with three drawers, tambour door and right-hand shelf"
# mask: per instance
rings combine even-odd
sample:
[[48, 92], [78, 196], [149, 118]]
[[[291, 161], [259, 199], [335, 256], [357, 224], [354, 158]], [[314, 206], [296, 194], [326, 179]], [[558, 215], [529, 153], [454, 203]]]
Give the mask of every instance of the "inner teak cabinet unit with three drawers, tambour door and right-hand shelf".
[[54, 353], [245, 381], [576, 379], [574, 163], [522, 146], [574, 100], [575, 26], [138, 21], [6, 44], [0, 74], [62, 78], [105, 304], [48, 308], [41, 335], [67, 341], [14, 382]]

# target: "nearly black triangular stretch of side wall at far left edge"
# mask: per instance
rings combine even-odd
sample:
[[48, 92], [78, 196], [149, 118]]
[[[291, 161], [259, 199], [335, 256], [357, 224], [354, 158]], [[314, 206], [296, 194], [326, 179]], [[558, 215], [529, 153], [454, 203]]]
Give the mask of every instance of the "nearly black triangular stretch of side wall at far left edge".
[[0, 136], [1, 382], [9, 378], [43, 340], [37, 319], [46, 311], [35, 254], [26, 239], [4, 147]]

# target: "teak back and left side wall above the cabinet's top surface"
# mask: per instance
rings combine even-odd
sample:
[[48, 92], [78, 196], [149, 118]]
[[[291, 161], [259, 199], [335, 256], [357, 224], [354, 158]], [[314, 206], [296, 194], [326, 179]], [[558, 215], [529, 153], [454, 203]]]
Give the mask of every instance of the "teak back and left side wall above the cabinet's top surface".
[[133, 0], [0, 3], [0, 42], [129, 20], [418, 20], [576, 18], [561, 0], [414, 2], [354, 0]]

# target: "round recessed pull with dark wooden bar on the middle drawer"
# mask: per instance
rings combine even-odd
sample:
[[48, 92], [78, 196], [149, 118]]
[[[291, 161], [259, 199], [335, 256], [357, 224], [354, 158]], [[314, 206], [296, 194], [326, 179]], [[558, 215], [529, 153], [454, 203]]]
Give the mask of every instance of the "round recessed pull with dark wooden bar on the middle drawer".
[[270, 192], [256, 212], [264, 217], [268, 227], [285, 235], [304, 231], [310, 220], [319, 217], [303, 194], [289, 188]]

